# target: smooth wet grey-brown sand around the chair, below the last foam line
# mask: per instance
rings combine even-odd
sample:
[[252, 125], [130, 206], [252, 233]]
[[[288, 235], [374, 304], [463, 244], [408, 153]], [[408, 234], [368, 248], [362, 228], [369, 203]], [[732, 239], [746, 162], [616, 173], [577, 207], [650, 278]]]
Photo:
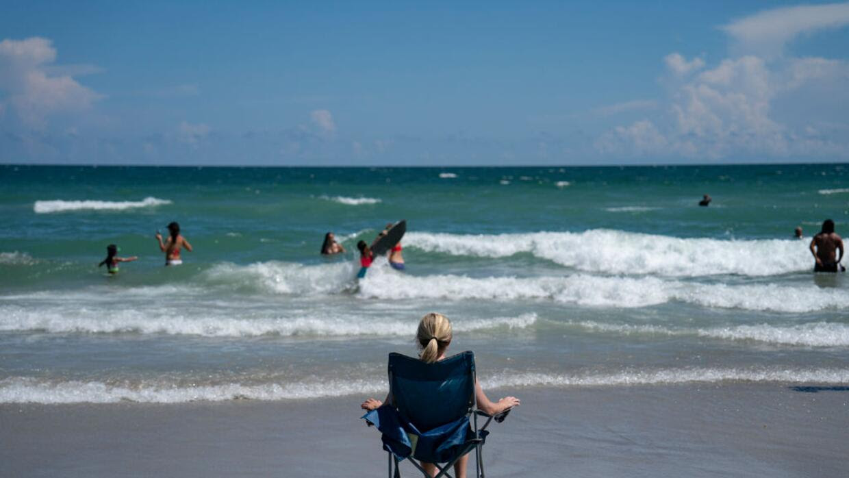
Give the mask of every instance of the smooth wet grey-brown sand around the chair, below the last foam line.
[[[487, 476], [846, 476], [849, 387], [492, 391]], [[0, 476], [382, 476], [361, 396], [312, 402], [0, 405]], [[415, 476], [407, 465], [404, 475]]]

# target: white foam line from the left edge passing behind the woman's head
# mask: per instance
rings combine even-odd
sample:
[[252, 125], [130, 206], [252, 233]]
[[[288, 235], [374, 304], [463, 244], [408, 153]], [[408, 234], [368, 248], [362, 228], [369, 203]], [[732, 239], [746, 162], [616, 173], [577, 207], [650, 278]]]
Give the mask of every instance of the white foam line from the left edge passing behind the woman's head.
[[[400, 336], [415, 335], [418, 318], [409, 320], [357, 316], [356, 313], [312, 317], [273, 317], [272, 310], [241, 313], [217, 311], [215, 307], [197, 313], [175, 313], [167, 308], [121, 309], [104, 314], [98, 307], [69, 306], [51, 310], [31, 310], [17, 306], [0, 307], [0, 331], [42, 330], [53, 334], [163, 334], [205, 337], [279, 336]], [[248, 317], [245, 317], [248, 316]], [[269, 317], [271, 316], [271, 317]], [[526, 329], [537, 321], [533, 313], [519, 317], [456, 319], [453, 329], [473, 332], [488, 329]]]

